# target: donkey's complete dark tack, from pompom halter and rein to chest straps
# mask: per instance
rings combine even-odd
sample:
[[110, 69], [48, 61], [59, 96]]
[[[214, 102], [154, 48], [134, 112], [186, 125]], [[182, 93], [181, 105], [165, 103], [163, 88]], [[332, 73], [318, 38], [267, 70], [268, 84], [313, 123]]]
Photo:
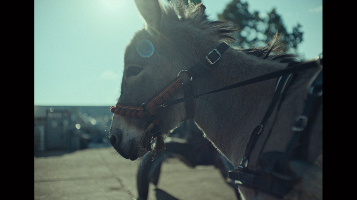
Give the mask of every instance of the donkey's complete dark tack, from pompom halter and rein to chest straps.
[[[165, 143], [162, 138], [162, 134], [159, 130], [160, 121], [155, 117], [156, 109], [160, 107], [166, 107], [175, 105], [181, 102], [185, 102], [186, 119], [193, 119], [195, 113], [195, 107], [193, 99], [211, 93], [216, 93], [223, 90], [238, 88], [241, 86], [258, 83], [261, 81], [278, 78], [278, 83], [275, 88], [275, 95], [272, 102], [263, 117], [261, 123], [253, 130], [250, 140], [247, 144], [244, 157], [241, 159], [238, 168], [229, 172], [229, 178], [236, 180], [236, 183], [260, 190], [268, 194], [282, 197], [286, 195], [293, 186], [300, 180], [303, 169], [300, 171], [294, 171], [289, 167], [289, 164], [293, 160], [299, 160], [306, 168], [310, 167], [312, 163], [307, 162], [307, 143], [310, 128], [315, 120], [317, 109], [322, 103], [322, 57], [319, 57], [315, 61], [303, 62], [294, 67], [278, 70], [269, 74], [265, 74], [259, 77], [241, 81], [236, 84], [228, 85], [226, 87], [210, 91], [204, 94], [194, 95], [192, 92], [191, 80], [193, 77], [202, 76], [203, 73], [211, 65], [214, 65], [222, 56], [222, 54], [229, 48], [228, 44], [221, 43], [217, 48], [210, 51], [207, 56], [197, 63], [193, 67], [187, 70], [181, 70], [177, 78], [171, 81], [165, 86], [159, 93], [152, 96], [147, 103], [141, 105], [131, 104], [116, 104], [111, 106], [111, 112], [126, 117], [139, 117], [145, 118], [150, 125], [147, 127], [144, 135], [140, 140], [139, 147], [151, 151], [151, 142], [156, 138], [156, 145], [154, 150], [161, 151], [165, 149]], [[286, 85], [289, 83], [292, 77], [292, 73], [301, 70], [320, 68], [317, 74], [312, 80], [312, 84], [308, 91], [307, 101], [303, 113], [297, 117], [295, 126], [292, 127], [294, 131], [293, 137], [288, 144], [285, 152], [267, 152], [262, 154], [259, 162], [261, 170], [256, 172], [247, 168], [250, 155], [255, 147], [255, 144], [263, 131], [265, 123], [274, 110], [280, 96], [282, 95]], [[188, 73], [190, 80], [183, 80], [180, 77], [181, 73]], [[175, 95], [177, 90], [183, 89], [184, 97], [180, 99], [170, 100], [171, 95]]]

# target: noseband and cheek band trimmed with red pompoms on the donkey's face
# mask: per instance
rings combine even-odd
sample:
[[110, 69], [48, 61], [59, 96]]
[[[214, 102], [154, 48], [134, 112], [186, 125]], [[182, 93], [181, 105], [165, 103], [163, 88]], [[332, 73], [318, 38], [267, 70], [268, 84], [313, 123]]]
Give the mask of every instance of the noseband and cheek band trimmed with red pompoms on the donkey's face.
[[[171, 95], [176, 94], [177, 90], [182, 89], [182, 79], [177, 77], [174, 81], [168, 84], [165, 89], [163, 89], [160, 93], [154, 95], [154, 97], [150, 98], [148, 103], [143, 103], [141, 107], [139, 106], [129, 106], [116, 104], [115, 106], [110, 107], [110, 111], [126, 117], [134, 117], [134, 118], [154, 118], [153, 115], [156, 114], [156, 109], [158, 107], [165, 107], [164, 101], [167, 101], [171, 98]], [[146, 108], [145, 108], [146, 105]], [[149, 115], [149, 116], [147, 116]], [[154, 119], [152, 123], [156, 126], [159, 125], [159, 120]]]

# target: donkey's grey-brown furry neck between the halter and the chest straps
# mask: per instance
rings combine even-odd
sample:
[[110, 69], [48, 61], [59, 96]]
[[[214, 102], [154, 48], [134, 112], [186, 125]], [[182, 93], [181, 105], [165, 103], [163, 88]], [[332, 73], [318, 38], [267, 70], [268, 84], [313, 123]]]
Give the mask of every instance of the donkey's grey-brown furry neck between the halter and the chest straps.
[[[194, 93], [202, 94], [284, 67], [229, 48], [217, 65], [193, 80]], [[195, 122], [233, 165], [243, 156], [252, 130], [268, 109], [274, 89], [275, 79], [196, 99]]]

